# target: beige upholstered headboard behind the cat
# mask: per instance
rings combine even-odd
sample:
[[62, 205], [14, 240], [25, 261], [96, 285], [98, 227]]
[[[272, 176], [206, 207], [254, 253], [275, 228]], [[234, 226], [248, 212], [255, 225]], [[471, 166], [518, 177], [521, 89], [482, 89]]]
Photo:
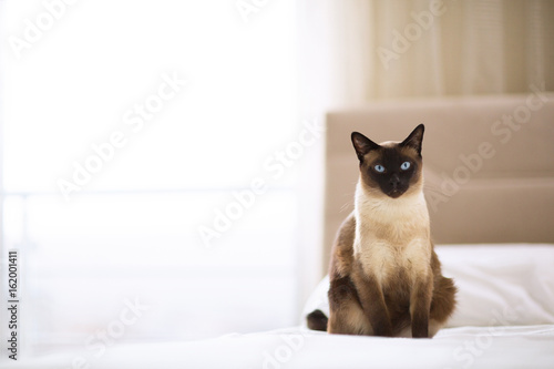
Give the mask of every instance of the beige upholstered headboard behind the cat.
[[353, 206], [350, 133], [401, 141], [419, 123], [437, 244], [554, 243], [554, 94], [387, 102], [327, 115], [326, 265]]

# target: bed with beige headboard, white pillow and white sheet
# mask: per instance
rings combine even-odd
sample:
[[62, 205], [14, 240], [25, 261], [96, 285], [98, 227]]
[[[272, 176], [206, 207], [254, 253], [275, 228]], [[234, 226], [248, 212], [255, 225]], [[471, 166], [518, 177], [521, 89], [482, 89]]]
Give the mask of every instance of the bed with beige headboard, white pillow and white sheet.
[[443, 274], [459, 287], [433, 339], [327, 335], [304, 316], [327, 311], [324, 278], [301, 324], [214, 339], [65, 351], [18, 368], [554, 368], [554, 96], [388, 102], [327, 116], [325, 259], [352, 207], [350, 132], [401, 140], [425, 124], [425, 196]]

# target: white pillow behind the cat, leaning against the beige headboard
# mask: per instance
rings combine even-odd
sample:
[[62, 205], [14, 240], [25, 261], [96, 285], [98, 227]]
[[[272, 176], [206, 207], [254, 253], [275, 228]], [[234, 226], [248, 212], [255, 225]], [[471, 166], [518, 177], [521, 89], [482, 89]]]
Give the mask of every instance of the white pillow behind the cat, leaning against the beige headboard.
[[[554, 245], [437, 246], [445, 277], [454, 278], [458, 306], [448, 327], [554, 324]], [[326, 276], [306, 303], [329, 316]], [[304, 325], [306, 325], [306, 319]]]

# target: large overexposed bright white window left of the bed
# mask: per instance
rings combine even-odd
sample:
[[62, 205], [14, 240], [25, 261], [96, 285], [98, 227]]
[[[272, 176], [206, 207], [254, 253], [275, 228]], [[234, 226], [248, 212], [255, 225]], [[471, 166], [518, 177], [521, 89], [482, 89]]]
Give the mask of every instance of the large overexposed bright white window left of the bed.
[[2, 256], [28, 342], [297, 324], [297, 175], [276, 155], [301, 129], [294, 2], [0, 7]]

